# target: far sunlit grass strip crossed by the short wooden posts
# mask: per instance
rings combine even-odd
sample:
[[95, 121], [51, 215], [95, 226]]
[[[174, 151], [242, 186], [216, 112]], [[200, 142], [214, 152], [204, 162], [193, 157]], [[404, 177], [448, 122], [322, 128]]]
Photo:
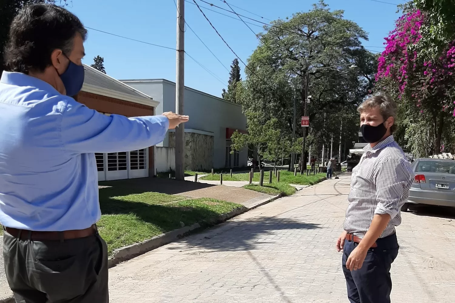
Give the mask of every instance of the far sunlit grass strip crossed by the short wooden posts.
[[[264, 172], [264, 184], [268, 183], [268, 174], [269, 172]], [[280, 183], [286, 184], [298, 184], [298, 185], [313, 185], [316, 184], [321, 178], [324, 178], [326, 174], [315, 174], [307, 176], [306, 174], [301, 175], [297, 173], [297, 176], [294, 176], [293, 172], [287, 170], [280, 171]], [[205, 177], [202, 177], [201, 180], [219, 180], [219, 174], [209, 174]], [[232, 178], [230, 174], [223, 174], [223, 181], [248, 181], [249, 174], [233, 174]], [[275, 175], [272, 175], [272, 181], [276, 181], [277, 178]], [[259, 182], [259, 173], [254, 173], [253, 182]]]

